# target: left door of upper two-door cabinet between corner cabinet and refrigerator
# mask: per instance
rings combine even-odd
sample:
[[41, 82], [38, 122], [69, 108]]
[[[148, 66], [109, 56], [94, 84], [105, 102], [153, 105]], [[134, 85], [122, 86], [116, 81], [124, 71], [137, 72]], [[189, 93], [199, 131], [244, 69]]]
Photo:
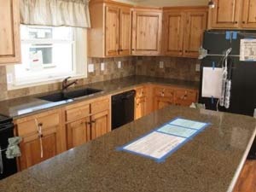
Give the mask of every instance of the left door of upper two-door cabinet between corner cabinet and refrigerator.
[[184, 14], [179, 11], [164, 14], [165, 55], [183, 55]]

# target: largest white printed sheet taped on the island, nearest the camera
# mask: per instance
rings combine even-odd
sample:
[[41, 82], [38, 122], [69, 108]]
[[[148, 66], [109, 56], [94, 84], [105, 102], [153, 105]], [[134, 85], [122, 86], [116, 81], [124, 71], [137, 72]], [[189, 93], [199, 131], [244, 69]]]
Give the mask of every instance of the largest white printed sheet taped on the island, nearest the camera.
[[175, 137], [154, 131], [148, 136], [127, 145], [124, 149], [160, 159], [176, 148], [177, 145], [183, 143], [184, 140], [185, 138], [183, 137]]

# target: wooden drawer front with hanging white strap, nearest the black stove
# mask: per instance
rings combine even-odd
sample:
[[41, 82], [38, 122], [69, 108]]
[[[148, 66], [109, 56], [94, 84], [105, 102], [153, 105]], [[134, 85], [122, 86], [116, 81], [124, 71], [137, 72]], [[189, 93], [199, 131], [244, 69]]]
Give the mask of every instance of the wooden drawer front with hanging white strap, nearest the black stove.
[[20, 137], [24, 137], [38, 132], [37, 122], [38, 124], [42, 124], [42, 129], [44, 130], [50, 127], [60, 125], [60, 116], [59, 113], [53, 113], [38, 118], [34, 117], [30, 120], [22, 122], [17, 125], [18, 135]]

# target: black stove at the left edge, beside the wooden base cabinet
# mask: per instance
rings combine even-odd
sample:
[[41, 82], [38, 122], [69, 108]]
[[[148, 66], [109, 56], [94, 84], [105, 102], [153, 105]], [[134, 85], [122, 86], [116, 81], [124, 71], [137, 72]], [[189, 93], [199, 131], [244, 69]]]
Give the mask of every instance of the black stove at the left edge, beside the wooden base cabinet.
[[0, 180], [17, 172], [16, 159], [7, 159], [6, 149], [9, 137], [14, 137], [12, 119], [0, 115]]

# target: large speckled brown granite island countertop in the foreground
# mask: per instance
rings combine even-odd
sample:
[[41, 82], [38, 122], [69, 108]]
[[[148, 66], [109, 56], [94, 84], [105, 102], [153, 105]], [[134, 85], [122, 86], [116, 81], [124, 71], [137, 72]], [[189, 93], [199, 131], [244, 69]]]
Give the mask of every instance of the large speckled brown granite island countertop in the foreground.
[[[116, 151], [177, 116], [212, 125], [164, 163]], [[0, 181], [1, 192], [231, 192], [256, 119], [171, 106]]]

